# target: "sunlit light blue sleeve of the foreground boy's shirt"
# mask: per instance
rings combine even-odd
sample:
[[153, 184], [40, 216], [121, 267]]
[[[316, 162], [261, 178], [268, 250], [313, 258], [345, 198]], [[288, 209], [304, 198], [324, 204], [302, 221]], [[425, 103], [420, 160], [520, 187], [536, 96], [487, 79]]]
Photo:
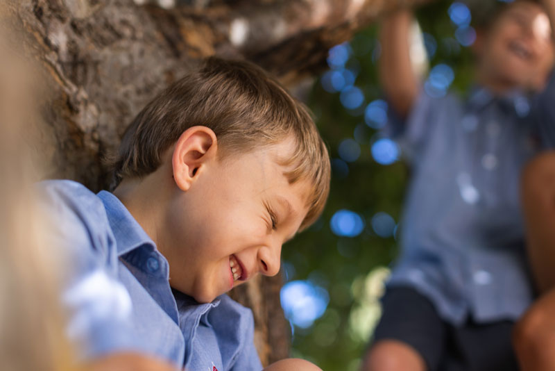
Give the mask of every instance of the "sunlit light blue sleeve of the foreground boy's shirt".
[[117, 256], [108, 249], [101, 201], [74, 182], [43, 182], [38, 188], [48, 219], [45, 245], [60, 256], [66, 333], [78, 358], [142, 349], [133, 336], [130, 295], [117, 279]]

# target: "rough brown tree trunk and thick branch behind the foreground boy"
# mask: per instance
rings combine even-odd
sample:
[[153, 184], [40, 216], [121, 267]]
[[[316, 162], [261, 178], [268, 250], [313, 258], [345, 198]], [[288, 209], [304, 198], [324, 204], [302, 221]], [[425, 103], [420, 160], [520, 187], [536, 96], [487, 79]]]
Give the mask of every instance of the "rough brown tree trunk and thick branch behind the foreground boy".
[[[37, 164], [96, 191], [107, 185], [102, 160], [126, 124], [199, 58], [247, 58], [292, 88], [325, 68], [334, 44], [391, 8], [425, 1], [196, 0], [163, 9], [133, 0], [0, 0], [0, 15], [24, 31], [42, 72]], [[264, 277], [232, 292], [253, 308], [264, 364], [289, 349], [281, 282]]]

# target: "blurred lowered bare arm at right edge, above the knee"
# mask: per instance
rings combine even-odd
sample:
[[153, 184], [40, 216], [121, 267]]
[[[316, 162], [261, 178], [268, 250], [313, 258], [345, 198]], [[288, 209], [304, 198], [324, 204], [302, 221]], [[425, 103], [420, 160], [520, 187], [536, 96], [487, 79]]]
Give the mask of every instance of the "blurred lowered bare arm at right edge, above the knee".
[[527, 249], [540, 293], [555, 288], [555, 152], [537, 156], [522, 176]]

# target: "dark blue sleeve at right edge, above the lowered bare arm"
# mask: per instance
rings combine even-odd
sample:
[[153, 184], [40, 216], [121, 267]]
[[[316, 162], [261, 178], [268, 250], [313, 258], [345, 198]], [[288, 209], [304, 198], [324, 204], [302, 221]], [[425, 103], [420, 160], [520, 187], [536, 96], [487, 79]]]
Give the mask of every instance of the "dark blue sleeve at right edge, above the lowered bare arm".
[[545, 89], [533, 101], [532, 112], [540, 141], [546, 149], [555, 147], [555, 72]]

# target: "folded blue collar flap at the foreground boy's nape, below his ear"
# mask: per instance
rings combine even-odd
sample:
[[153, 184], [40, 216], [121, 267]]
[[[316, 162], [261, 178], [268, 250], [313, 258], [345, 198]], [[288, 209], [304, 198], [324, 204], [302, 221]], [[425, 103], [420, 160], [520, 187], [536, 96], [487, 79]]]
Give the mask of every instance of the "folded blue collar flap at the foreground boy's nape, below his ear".
[[143, 245], [156, 249], [154, 241], [116, 196], [105, 190], [101, 190], [97, 196], [102, 200], [108, 214], [108, 222], [116, 238], [118, 256]]

